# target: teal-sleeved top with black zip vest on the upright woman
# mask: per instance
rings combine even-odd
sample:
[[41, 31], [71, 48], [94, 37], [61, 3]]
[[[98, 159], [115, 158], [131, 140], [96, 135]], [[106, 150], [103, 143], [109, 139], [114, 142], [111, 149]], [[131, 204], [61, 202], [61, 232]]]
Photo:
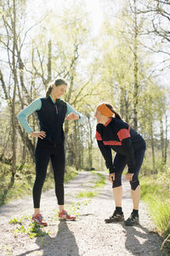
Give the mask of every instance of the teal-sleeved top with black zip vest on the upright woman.
[[67, 102], [61, 101], [60, 99], [54, 102], [51, 96], [39, 98], [31, 102], [31, 104], [23, 109], [17, 116], [20, 125], [22, 125], [28, 133], [30, 133], [32, 129], [27, 122], [27, 117], [34, 112], [37, 112], [40, 131], [46, 132], [44, 140], [48, 140], [48, 142], [53, 144], [64, 143], [63, 123], [66, 115], [73, 112], [82, 119], [82, 115], [71, 108], [71, 105]]

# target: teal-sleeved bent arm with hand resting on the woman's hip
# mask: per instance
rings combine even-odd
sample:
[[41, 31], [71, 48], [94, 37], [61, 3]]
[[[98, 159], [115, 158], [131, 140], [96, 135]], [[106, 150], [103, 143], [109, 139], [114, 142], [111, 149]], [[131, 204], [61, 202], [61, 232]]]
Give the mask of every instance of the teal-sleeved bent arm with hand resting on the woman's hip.
[[[40, 99], [35, 100], [34, 102], [31, 102], [31, 104], [20, 111], [20, 113], [17, 116], [17, 119], [20, 122], [20, 125], [26, 130], [27, 133], [31, 133], [32, 129], [31, 126], [27, 122], [27, 117], [34, 113], [37, 110], [40, 110], [42, 108], [42, 101]], [[33, 131], [32, 131], [33, 132]]]

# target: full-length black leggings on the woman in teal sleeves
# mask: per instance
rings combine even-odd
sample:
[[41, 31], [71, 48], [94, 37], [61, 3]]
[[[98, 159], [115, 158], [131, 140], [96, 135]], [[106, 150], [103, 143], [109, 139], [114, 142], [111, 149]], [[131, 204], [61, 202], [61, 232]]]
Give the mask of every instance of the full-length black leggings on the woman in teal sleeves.
[[64, 205], [64, 177], [65, 177], [65, 146], [58, 144], [54, 146], [48, 141], [38, 139], [35, 152], [36, 157], [36, 180], [33, 187], [34, 207], [40, 207], [42, 186], [47, 174], [48, 162], [54, 170], [55, 195], [59, 205]]

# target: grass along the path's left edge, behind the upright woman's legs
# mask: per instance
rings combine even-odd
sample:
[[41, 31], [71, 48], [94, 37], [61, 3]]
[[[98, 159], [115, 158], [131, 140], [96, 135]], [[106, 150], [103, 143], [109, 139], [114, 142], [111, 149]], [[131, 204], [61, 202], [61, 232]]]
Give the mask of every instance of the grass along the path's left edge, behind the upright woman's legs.
[[[3, 206], [9, 201], [32, 195], [35, 173], [30, 170], [34, 169], [35, 166], [25, 166], [22, 171], [17, 170], [13, 179], [11, 177], [10, 166], [0, 165], [0, 206]], [[76, 177], [78, 173], [74, 167], [70, 166], [66, 167], [66, 171], [65, 183], [69, 182], [71, 178]], [[42, 190], [52, 188], [54, 188], [54, 174], [48, 171]]]

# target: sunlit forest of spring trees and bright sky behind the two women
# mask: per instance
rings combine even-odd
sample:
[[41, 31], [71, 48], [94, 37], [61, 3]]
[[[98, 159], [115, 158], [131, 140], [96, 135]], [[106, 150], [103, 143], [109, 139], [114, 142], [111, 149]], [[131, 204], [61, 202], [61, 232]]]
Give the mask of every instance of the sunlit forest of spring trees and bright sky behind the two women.
[[[1, 205], [31, 191], [35, 175], [36, 140], [21, 128], [17, 114], [61, 77], [69, 82], [65, 102], [85, 117], [65, 121], [66, 172], [106, 170], [95, 142], [94, 111], [99, 102], [111, 102], [147, 143], [142, 196], [153, 215], [160, 201], [157, 214], [165, 220], [159, 219], [158, 230], [168, 238], [169, 1], [0, 3]], [[37, 115], [28, 121], [38, 131]]]

